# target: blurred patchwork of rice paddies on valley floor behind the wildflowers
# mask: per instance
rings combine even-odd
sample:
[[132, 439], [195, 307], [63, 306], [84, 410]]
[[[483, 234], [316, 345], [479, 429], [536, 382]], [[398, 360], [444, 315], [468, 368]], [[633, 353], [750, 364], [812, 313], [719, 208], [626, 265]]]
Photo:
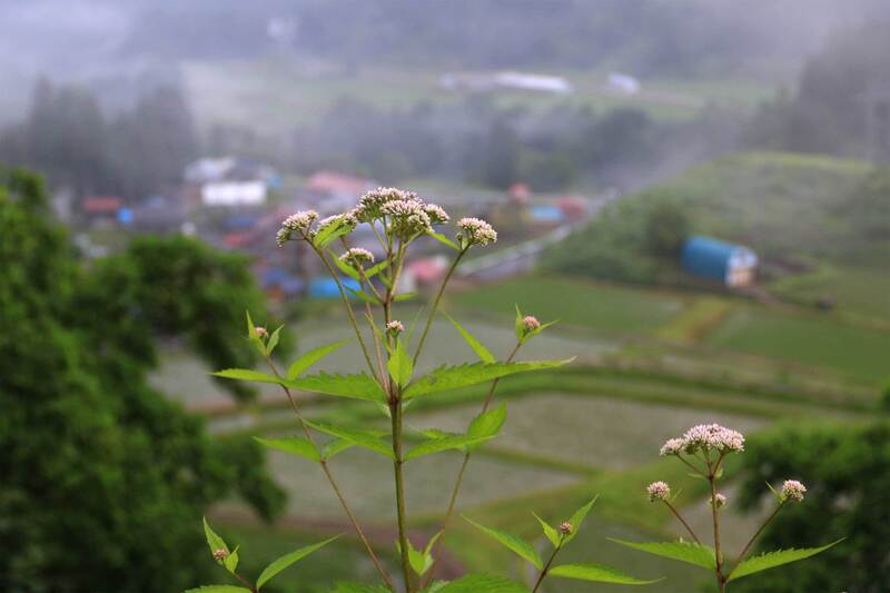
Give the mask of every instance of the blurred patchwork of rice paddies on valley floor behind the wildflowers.
[[[517, 302], [517, 303], [516, 303]], [[779, 422], [832, 418], [857, 422], [878, 407], [879, 385], [890, 374], [890, 332], [834, 312], [765, 307], [731, 296], [629, 288], [547, 276], [514, 278], [455, 294], [446, 309], [472, 328], [492, 352], [512, 347], [514, 303], [542, 320], [560, 324], [536, 337], [521, 358], [566, 358], [570, 366], [504, 379], [497, 401], [507, 402], [502, 433], [468, 465], [459, 513], [542, 543], [531, 512], [564, 518], [600, 495], [566, 560], [603, 562], [644, 577], [664, 576], [657, 591], [706, 591], [706, 573], [632, 553], [607, 537], [657, 540], [680, 536], [678, 526], [643, 493], [654, 480], [683, 492], [679, 504], [694, 525], [705, 525], [706, 507], [698, 481], [686, 468], [657, 456], [663, 441], [691, 425], [719, 422], [749, 437]], [[409, 323], [417, 309], [397, 316]], [[319, 316], [293, 328], [299, 347], [348, 337], [336, 317]], [[474, 354], [447, 320], [433, 328], [421, 364], [473, 360]], [[362, 359], [354, 345], [318, 368], [355, 370]], [[155, 377], [185, 405], [208, 415], [211, 429], [226, 434], [287, 435], [296, 431], [284, 397], [264, 389], [246, 409], [228, 402], [219, 384], [195, 359], [170, 353]], [[182, 380], [182, 377], [187, 380]], [[178, 382], [178, 383], [177, 383]], [[477, 413], [486, 389], [443, 393], [409, 408], [414, 431], [463, 431]], [[363, 427], [387, 421], [370, 404], [301, 395], [305, 414]], [[337, 580], [372, 580], [373, 570], [350, 536], [328, 484], [313, 463], [284, 453], [269, 455], [271, 471], [287, 490], [287, 512], [264, 526], [236, 501], [211, 513], [219, 531], [240, 544], [247, 574], [300, 543], [344, 533], [313, 562], [283, 574], [281, 591], [326, 591]], [[461, 456], [446, 453], [406, 466], [412, 538], [424, 544], [438, 528]], [[386, 562], [394, 554], [392, 466], [364, 449], [332, 461], [346, 497], [372, 534]], [[730, 475], [731, 475], [730, 471]], [[732, 496], [732, 483], [728, 485]], [[730, 546], [741, 545], [756, 514], [728, 510]], [[445, 575], [482, 571], [523, 579], [515, 556], [498, 548], [463, 520], [447, 538]], [[703, 585], [706, 587], [706, 584]], [[265, 591], [265, 590], [264, 590]], [[273, 591], [270, 589], [270, 591]], [[619, 591], [616, 585], [553, 581], [547, 593]]]

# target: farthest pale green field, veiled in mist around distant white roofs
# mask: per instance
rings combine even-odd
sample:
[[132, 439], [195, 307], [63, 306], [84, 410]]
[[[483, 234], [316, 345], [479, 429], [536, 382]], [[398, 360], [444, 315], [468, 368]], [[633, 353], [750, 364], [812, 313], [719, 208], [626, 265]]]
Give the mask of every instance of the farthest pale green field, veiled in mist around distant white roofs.
[[[254, 61], [192, 61], [184, 67], [186, 88], [199, 123], [249, 123], [269, 135], [312, 122], [338, 99], [360, 99], [378, 108], [412, 107], [418, 102], [457, 103], [464, 95], [438, 86], [443, 72], [365, 70], [350, 75], [309, 73], [285, 59]], [[575, 88], [571, 96], [528, 92], [492, 95], [501, 107], [551, 109], [590, 106], [596, 110], [633, 107], [662, 120], [695, 117], [709, 103], [753, 109], [772, 89], [745, 80], [643, 81], [636, 96], [617, 96], [605, 89], [602, 73], [560, 71]]]

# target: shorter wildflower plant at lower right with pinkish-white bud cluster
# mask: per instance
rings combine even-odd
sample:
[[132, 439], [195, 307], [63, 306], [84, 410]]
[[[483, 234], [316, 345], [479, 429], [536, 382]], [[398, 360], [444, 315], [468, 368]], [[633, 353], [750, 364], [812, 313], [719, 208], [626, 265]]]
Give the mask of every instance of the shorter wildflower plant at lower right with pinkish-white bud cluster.
[[708, 505], [711, 511], [711, 524], [713, 527], [713, 547], [702, 543], [702, 538], [692, 530], [678, 510], [675, 505], [676, 494], [672, 494], [671, 486], [661, 481], [653, 482], [646, 487], [646, 496], [649, 496], [649, 500], [653, 503], [663, 504], [683, 525], [683, 528], [689, 533], [692, 540], [684, 541], [681, 538], [678, 542], [662, 543], [613, 541], [656, 556], [678, 560], [709, 570], [714, 574], [718, 590], [721, 593], [725, 593], [729, 583], [736, 579], [814, 556], [840, 543], [839, 540], [821, 547], [779, 550], [759, 556], [748, 557], [748, 553], [758, 536], [782, 508], [789, 504], [803, 502], [807, 487], [797, 480], [785, 480], [779, 490], [767, 484], [775, 498], [774, 508], [754, 532], [741, 552], [739, 552], [734, 562], [730, 562], [723, 547], [721, 533], [721, 513], [729, 503], [729, 500], [720, 492], [719, 486], [723, 478], [723, 464], [726, 458], [730, 455], [740, 454], [743, 451], [744, 436], [738, 431], [720, 426], [719, 424], [693, 426], [686, 431], [683, 436], [670, 438], [661, 447], [662, 456], [676, 458], [691, 470], [691, 477], [708, 482]]

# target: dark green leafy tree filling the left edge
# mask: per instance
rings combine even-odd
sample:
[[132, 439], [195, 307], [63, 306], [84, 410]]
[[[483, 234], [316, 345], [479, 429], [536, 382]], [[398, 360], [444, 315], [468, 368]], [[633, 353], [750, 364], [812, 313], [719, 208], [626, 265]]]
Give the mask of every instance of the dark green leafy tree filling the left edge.
[[237, 495], [270, 518], [284, 493], [253, 443], [210, 438], [147, 378], [158, 333], [216, 353], [214, 364], [249, 364], [247, 342], [226, 337], [245, 303], [266, 316], [244, 261], [154, 239], [87, 269], [50, 221], [41, 181], [4, 169], [0, 260], [0, 589], [200, 580], [196, 517]]

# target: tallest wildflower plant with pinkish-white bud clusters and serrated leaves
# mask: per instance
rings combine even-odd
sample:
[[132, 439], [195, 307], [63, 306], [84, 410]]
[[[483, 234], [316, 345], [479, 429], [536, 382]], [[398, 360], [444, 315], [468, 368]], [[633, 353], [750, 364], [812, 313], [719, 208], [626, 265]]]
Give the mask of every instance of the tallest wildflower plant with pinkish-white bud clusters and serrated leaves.
[[[517, 583], [508, 579], [491, 575], [466, 575], [453, 582], [435, 580], [436, 565], [442, 551], [442, 542], [453, 523], [455, 505], [459, 495], [464, 472], [473, 453], [487, 441], [495, 437], [506, 419], [506, 405], [494, 405], [494, 395], [501, 377], [527, 373], [543, 368], [554, 368], [570, 360], [517, 362], [515, 358], [523, 345], [543, 332], [547, 325], [532, 316], [516, 315], [516, 344], [504, 360], [496, 357], [457, 320], [448, 317], [457, 332], [466, 339], [478, 357], [477, 362], [457, 366], [443, 365], [419, 375], [417, 363], [424, 354], [429, 339], [433, 320], [439, 313], [442, 297], [448, 287], [461, 261], [475, 249], [481, 249], [497, 240], [492, 226], [477, 218], [458, 220], [452, 231], [442, 227], [451, 223], [448, 214], [434, 204], [427, 204], [416, 194], [395, 188], [378, 188], [362, 196], [356, 207], [347, 213], [325, 219], [314, 211], [297, 213], [284, 220], [277, 240], [281, 247], [291, 241], [306, 244], [318, 257], [324, 268], [336, 283], [343, 307], [355, 334], [355, 343], [362, 352], [365, 368], [354, 374], [308, 374], [310, 367], [343, 347], [346, 342], [337, 342], [305, 353], [294, 360], [287, 369], [279, 369], [271, 358], [278, 344], [281, 328], [274, 330], [254, 324], [247, 316], [248, 338], [265, 359], [268, 372], [229, 368], [216, 373], [230, 379], [271, 383], [279, 385], [295, 415], [298, 435], [285, 438], [257, 438], [263, 445], [283, 451], [317, 463], [338, 500], [343, 512], [352, 525], [355, 536], [360, 541], [378, 573], [378, 583], [339, 583], [333, 591], [337, 593], [376, 592], [437, 592], [437, 593], [528, 593], [541, 590], [550, 576], [578, 579], [607, 583], [645, 584], [607, 566], [595, 564], [557, 565], [555, 560], [575, 536], [581, 523], [593, 505], [593, 501], [576, 512], [571, 518], [554, 527], [543, 521], [541, 526], [553, 550], [545, 562], [537, 550], [515, 535], [471, 523], [492, 536], [496, 542], [518, 554], [535, 570], [534, 581]], [[349, 245], [350, 234], [359, 225], [368, 225], [379, 244], [379, 258], [359, 247]], [[405, 325], [394, 318], [394, 305], [412, 295], [399, 294], [399, 277], [403, 274], [409, 248], [417, 239], [429, 237], [445, 245], [454, 255], [451, 266], [435, 293], [432, 306], [426, 313], [423, 329], [416, 339], [408, 336]], [[347, 283], [347, 279], [352, 281]], [[357, 286], [357, 288], [356, 288]], [[367, 326], [365, 328], [364, 326]], [[419, 375], [419, 376], [418, 376]], [[463, 433], [444, 431], [422, 431], [409, 434], [405, 424], [408, 406], [417, 401], [435, 397], [443, 392], [488, 383], [478, 414], [469, 422]], [[297, 392], [313, 392], [334, 397], [346, 397], [376, 406], [388, 421], [388, 429], [356, 427], [354, 425], [323, 424], [306, 418], [300, 408]], [[376, 425], [375, 425], [376, 426]], [[406, 439], [406, 436], [409, 438]], [[413, 445], [409, 445], [411, 441]], [[390, 574], [377, 556], [368, 537], [356, 518], [349, 502], [339, 487], [332, 467], [334, 457], [350, 447], [362, 447], [392, 462], [396, 530], [398, 533], [396, 552], [398, 571]], [[441, 530], [425, 542], [415, 546], [408, 538], [408, 516], [404, 466], [421, 463], [422, 457], [457, 449], [463, 461], [455, 477], [448, 507], [444, 514]], [[238, 573], [238, 547], [229, 547], [205, 521], [205, 531], [212, 559], [226, 571], [237, 585], [210, 585], [201, 587], [205, 593], [257, 593], [270, 579], [303, 560], [323, 545], [318, 544], [296, 550], [277, 559], [266, 567], [259, 577], [250, 582]]]

